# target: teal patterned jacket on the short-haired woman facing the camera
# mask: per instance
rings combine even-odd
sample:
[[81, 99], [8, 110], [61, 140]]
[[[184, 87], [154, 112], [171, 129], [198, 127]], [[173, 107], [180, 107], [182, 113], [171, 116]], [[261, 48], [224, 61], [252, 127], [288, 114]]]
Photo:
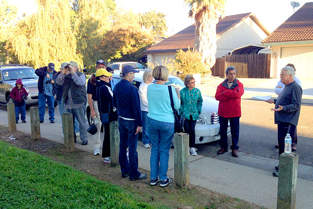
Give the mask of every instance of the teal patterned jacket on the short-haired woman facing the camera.
[[185, 115], [186, 119], [190, 119], [190, 115], [192, 115], [194, 121], [198, 120], [202, 102], [201, 91], [198, 88], [193, 88], [190, 91], [188, 87], [184, 87], [180, 90], [179, 114]]

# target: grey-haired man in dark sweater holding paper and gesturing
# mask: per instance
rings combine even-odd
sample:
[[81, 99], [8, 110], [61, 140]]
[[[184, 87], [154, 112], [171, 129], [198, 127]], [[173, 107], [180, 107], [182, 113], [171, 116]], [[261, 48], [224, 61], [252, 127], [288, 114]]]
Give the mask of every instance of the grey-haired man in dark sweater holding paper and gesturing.
[[[302, 88], [294, 81], [294, 69], [291, 66], [286, 66], [281, 69], [280, 81], [285, 84], [285, 88], [280, 93], [277, 100], [269, 99], [266, 102], [275, 104], [274, 121], [277, 124], [278, 130], [278, 145], [279, 154], [284, 152], [285, 137], [287, 133], [290, 134], [291, 139], [294, 138], [294, 131], [298, 125], [301, 108]], [[278, 176], [278, 167], [274, 176]]]

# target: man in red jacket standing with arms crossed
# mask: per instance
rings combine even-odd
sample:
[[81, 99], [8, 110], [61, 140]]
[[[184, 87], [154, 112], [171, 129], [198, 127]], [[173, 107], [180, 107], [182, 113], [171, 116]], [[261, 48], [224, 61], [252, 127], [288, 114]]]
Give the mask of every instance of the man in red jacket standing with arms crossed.
[[217, 87], [215, 94], [215, 99], [220, 101], [218, 115], [220, 116], [221, 149], [217, 154], [221, 155], [228, 151], [227, 127], [229, 121], [232, 141], [231, 154], [233, 157], [238, 157], [240, 101], [244, 94], [244, 85], [236, 79], [235, 67], [227, 67], [226, 76], [227, 79]]

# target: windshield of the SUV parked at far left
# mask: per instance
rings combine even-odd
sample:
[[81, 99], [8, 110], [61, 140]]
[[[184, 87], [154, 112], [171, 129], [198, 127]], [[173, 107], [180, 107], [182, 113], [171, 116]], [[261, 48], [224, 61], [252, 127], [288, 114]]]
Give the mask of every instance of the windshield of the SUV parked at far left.
[[6, 69], [6, 70], [3, 70], [2, 73], [3, 73], [4, 81], [38, 78], [33, 68]]

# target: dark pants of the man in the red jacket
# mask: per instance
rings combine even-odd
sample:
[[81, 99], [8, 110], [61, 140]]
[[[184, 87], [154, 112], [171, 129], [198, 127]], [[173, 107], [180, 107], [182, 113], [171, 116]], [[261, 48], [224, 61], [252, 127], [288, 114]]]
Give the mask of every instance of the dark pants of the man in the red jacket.
[[231, 150], [239, 149], [238, 141], [239, 141], [239, 119], [240, 117], [233, 117], [233, 118], [224, 118], [220, 116], [220, 146], [221, 148], [227, 149], [228, 148], [228, 140], [227, 140], [227, 128], [228, 128], [228, 120], [230, 124], [230, 133], [231, 133], [231, 142], [232, 145], [230, 146]]

